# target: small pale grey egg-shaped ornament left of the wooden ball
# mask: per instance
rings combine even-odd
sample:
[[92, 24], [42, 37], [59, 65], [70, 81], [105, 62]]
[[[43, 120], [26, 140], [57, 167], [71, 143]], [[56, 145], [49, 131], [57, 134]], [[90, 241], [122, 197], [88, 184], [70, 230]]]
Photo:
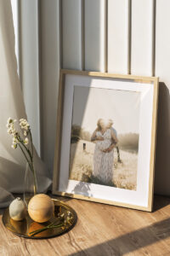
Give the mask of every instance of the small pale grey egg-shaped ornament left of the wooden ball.
[[26, 204], [20, 197], [17, 197], [16, 199], [14, 199], [14, 201], [11, 202], [9, 206], [10, 218], [17, 221], [22, 220], [26, 218], [26, 212]]

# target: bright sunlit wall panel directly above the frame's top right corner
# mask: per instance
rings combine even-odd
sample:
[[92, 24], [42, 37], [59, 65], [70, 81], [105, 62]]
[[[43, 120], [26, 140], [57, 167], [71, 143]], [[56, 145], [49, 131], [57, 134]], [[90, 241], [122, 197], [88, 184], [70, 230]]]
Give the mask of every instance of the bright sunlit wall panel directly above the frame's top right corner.
[[153, 0], [132, 0], [132, 74], [152, 75], [153, 3]]

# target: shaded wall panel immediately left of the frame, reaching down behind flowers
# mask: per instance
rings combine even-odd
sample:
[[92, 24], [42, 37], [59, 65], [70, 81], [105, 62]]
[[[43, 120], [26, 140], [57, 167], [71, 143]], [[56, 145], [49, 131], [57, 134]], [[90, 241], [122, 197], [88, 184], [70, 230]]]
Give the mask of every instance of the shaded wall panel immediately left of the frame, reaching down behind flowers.
[[42, 159], [52, 176], [59, 85], [59, 0], [41, 0]]

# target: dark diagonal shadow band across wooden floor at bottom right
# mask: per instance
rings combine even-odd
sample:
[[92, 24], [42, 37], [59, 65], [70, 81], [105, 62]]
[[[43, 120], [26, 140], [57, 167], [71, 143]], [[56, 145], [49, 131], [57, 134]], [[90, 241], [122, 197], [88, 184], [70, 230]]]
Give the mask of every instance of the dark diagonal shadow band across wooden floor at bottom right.
[[[105, 241], [94, 247], [89, 247], [78, 253], [71, 253], [70, 256], [78, 255], [127, 255], [140, 249], [141, 255], [147, 253], [148, 247], [159, 241], [163, 241], [170, 236], [170, 218], [164, 219], [156, 224], [151, 224], [143, 229], [135, 230], [131, 233], [127, 233], [123, 236], [118, 236], [115, 239]], [[143, 249], [142, 249], [143, 248]], [[152, 247], [152, 250], [154, 247]], [[159, 252], [159, 247], [152, 252], [152, 255], [162, 255], [162, 251]], [[158, 254], [157, 254], [158, 253]], [[133, 254], [131, 254], [133, 255]], [[137, 255], [137, 254], [136, 254]]]

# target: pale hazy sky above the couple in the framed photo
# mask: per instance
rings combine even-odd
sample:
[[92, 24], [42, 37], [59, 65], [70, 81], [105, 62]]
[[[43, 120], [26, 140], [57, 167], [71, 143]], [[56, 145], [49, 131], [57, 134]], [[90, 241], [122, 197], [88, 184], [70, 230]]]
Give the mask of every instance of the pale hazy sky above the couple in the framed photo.
[[118, 134], [139, 133], [139, 106], [139, 92], [75, 86], [72, 125], [93, 132], [98, 119], [112, 119]]

